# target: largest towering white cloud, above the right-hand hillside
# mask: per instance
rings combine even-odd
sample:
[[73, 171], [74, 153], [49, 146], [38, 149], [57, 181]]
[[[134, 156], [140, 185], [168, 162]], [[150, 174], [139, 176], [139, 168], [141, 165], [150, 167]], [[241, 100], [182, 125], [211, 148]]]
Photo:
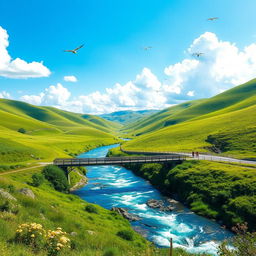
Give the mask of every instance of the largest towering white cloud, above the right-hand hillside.
[[256, 77], [256, 44], [243, 50], [206, 32], [194, 40], [187, 52], [203, 52], [200, 58], [184, 59], [165, 68], [170, 86], [181, 93], [210, 97]]

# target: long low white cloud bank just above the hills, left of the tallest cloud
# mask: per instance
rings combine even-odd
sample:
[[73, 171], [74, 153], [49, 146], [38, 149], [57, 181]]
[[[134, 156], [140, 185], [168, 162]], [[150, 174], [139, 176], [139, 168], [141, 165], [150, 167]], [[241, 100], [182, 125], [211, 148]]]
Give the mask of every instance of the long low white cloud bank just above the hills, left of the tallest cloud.
[[83, 113], [106, 113], [122, 109], [151, 109], [166, 107], [160, 92], [161, 83], [147, 68], [134, 81], [115, 84], [104, 93], [99, 91], [70, 99], [71, 93], [61, 84], [51, 85], [38, 95], [23, 95], [20, 99], [35, 105], [50, 105]]

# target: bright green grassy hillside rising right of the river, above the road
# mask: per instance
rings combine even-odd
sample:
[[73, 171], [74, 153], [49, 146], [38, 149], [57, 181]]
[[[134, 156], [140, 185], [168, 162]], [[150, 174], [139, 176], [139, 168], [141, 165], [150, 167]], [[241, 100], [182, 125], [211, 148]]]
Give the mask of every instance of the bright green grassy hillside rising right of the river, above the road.
[[124, 148], [213, 151], [241, 158], [255, 158], [255, 93], [256, 80], [252, 80], [189, 106], [168, 119], [169, 123], [174, 124], [126, 142]]

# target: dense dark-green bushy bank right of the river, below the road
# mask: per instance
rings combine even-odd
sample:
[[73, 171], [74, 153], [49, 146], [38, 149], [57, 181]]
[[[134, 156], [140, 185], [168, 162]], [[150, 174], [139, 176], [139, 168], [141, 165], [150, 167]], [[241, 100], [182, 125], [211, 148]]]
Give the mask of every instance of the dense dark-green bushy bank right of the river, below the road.
[[[109, 155], [127, 154], [115, 148]], [[228, 228], [247, 222], [256, 229], [255, 169], [207, 161], [125, 166], [199, 215]]]

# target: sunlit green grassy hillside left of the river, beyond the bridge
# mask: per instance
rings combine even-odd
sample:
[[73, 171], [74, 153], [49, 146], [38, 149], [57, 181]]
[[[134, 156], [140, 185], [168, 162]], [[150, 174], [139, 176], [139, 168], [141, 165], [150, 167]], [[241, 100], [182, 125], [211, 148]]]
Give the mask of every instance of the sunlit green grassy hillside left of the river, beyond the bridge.
[[[0, 170], [116, 143], [118, 125], [100, 117], [0, 99]], [[18, 132], [24, 129], [25, 133]]]

